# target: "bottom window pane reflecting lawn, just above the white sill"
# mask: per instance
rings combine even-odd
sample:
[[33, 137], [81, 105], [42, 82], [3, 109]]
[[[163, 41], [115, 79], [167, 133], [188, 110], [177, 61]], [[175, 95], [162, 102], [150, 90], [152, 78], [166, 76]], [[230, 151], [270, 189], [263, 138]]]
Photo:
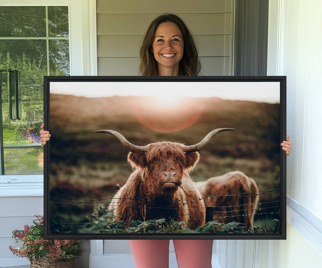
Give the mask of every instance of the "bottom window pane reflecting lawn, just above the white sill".
[[43, 146], [4, 148], [5, 174], [43, 174]]

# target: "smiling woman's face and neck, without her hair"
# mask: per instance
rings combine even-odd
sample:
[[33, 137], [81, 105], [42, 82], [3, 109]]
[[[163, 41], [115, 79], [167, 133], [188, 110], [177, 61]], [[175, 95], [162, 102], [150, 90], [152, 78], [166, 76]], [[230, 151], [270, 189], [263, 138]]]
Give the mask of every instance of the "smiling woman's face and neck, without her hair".
[[152, 44], [154, 58], [160, 68], [179, 68], [183, 56], [183, 35], [174, 22], [163, 22], [158, 25]]

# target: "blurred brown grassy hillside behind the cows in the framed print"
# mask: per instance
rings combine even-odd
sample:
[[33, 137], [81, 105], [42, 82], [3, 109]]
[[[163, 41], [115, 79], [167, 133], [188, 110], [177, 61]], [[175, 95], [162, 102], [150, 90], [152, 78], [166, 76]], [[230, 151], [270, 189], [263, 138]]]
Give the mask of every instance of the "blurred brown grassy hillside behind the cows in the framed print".
[[[50, 99], [51, 197], [108, 198], [117, 191], [116, 184], [125, 184], [132, 171], [128, 151], [115, 137], [93, 133], [100, 129], [118, 131], [137, 145], [165, 140], [189, 145], [213, 129], [235, 128], [216, 135], [199, 152], [191, 178], [204, 181], [240, 170], [256, 181], [259, 190], [279, 188], [279, 104], [187, 98], [177, 110], [162, 112], [153, 110], [147, 97], [51, 94]], [[261, 202], [275, 200], [279, 191], [260, 195]], [[90, 205], [51, 203], [53, 229], [62, 230], [56, 223], [82, 222], [91, 211]]]

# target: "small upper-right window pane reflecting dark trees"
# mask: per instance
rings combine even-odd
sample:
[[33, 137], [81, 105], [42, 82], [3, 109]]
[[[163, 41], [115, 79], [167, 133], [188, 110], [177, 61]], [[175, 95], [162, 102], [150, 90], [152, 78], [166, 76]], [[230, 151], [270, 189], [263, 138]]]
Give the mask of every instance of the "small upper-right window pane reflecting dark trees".
[[48, 36], [68, 37], [68, 6], [48, 6]]

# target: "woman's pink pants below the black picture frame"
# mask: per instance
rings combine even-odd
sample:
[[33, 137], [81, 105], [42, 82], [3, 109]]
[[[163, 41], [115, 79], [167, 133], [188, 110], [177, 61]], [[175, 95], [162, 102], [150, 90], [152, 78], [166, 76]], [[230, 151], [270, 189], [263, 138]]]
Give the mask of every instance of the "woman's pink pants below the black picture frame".
[[[169, 240], [128, 240], [137, 268], [168, 268]], [[179, 268], [211, 268], [213, 240], [173, 240]]]

